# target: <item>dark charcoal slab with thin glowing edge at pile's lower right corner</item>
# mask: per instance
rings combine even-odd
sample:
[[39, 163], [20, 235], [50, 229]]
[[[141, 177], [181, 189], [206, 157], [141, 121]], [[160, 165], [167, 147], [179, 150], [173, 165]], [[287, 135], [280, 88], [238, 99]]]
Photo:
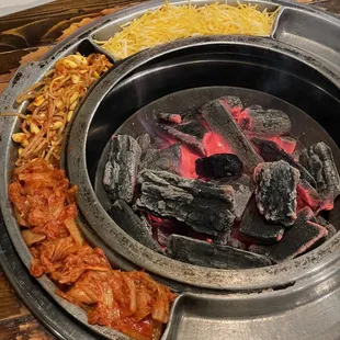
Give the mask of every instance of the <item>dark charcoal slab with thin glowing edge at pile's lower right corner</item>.
[[280, 263], [296, 258], [306, 252], [320, 239], [326, 238], [328, 231], [321, 225], [306, 220], [305, 216], [297, 215], [294, 225], [288, 228], [282, 240], [272, 246], [269, 258]]

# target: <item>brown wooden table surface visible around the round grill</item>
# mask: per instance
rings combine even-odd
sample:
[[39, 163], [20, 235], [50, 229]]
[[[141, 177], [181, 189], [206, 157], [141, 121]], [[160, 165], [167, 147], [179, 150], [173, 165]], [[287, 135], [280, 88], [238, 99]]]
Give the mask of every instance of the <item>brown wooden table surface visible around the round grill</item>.
[[[0, 93], [20, 65], [38, 60], [53, 45], [94, 18], [136, 2], [136, 0], [57, 0], [2, 16], [0, 19]], [[318, 1], [310, 5], [340, 14], [340, 0]], [[55, 339], [15, 296], [1, 268], [0, 339]]]

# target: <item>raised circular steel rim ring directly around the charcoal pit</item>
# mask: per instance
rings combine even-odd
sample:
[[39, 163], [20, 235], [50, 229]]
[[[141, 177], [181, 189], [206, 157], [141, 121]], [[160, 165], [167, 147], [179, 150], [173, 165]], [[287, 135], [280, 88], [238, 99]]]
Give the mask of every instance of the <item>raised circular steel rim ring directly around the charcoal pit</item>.
[[[204, 288], [226, 291], [252, 291], [265, 287], [281, 286], [303, 277], [320, 272], [336, 263], [340, 258], [340, 236], [336, 236], [316, 250], [287, 263], [276, 264], [263, 269], [252, 270], [212, 270], [195, 265], [184, 264], [157, 254], [139, 242], [127, 236], [106, 214], [99, 203], [90, 183], [86, 165], [87, 133], [95, 110], [111, 88], [127, 77], [134, 69], [145, 63], [165, 56], [174, 50], [190, 48], [197, 45], [227, 45], [241, 44], [253, 47], [262, 47], [280, 52], [292, 58], [299, 58], [308, 66], [317, 69], [320, 73], [339, 87], [339, 77], [330, 69], [310, 56], [304, 55], [296, 48], [261, 37], [243, 36], [214, 36], [196, 37], [174, 42], [167, 46], [160, 46], [146, 50], [132, 57], [123, 65], [113, 69], [89, 94], [87, 102], [80, 107], [72, 124], [69, 144], [72, 149], [68, 152], [68, 171], [71, 182], [79, 186], [80, 209], [102, 240], [111, 239], [111, 247], [121, 256], [145, 268], [147, 271], [173, 281], [200, 286]], [[81, 131], [81, 134], [79, 132]], [[107, 237], [110, 235], [110, 237]], [[112, 243], [112, 240], [113, 243]]]

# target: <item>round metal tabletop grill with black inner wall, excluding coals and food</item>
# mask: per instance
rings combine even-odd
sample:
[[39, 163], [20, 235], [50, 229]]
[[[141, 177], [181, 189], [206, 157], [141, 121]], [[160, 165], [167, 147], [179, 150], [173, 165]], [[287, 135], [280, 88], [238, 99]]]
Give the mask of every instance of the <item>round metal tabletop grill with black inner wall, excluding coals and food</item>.
[[[16, 95], [61, 56], [97, 50], [114, 60], [95, 39], [107, 38], [118, 25], [160, 3], [148, 2], [105, 16], [58, 45], [42, 61], [20, 69], [2, 97], [1, 111], [12, 111]], [[89, 91], [65, 141], [63, 166], [79, 186], [80, 224], [89, 242], [103, 248], [123, 270], [144, 268], [181, 293], [163, 340], [340, 338], [339, 234], [282, 264], [240, 271], [195, 267], [158, 254], [126, 235], [105, 212], [105, 200], [95, 184], [100, 155], [113, 132], [126, 125], [138, 110], [193, 88], [206, 89], [207, 97], [218, 97], [216, 91], [240, 91], [239, 88], [260, 91], [267, 93], [267, 99], [307, 113], [301, 123], [302, 132], [310, 131], [319, 138], [329, 135], [339, 168], [340, 21], [288, 2], [257, 3], [271, 10], [282, 5], [270, 36], [194, 37], [118, 61]], [[185, 101], [189, 106], [200, 100], [190, 99], [192, 102]], [[19, 110], [24, 110], [24, 105]], [[316, 122], [325, 132], [316, 127]], [[26, 268], [31, 254], [7, 192], [15, 157], [11, 134], [18, 121], [7, 118], [1, 124], [4, 158], [0, 173], [0, 261], [5, 274], [30, 309], [60, 339], [127, 339], [117, 331], [87, 325], [83, 311], [58, 298], [47, 277], [30, 277]], [[338, 229], [339, 214], [338, 203], [330, 213]]]

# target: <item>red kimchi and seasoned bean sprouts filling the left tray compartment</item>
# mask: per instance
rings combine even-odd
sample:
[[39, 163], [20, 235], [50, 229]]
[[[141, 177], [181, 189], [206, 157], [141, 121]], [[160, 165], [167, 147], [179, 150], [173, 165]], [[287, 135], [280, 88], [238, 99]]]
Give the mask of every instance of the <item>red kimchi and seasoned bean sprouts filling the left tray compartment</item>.
[[33, 254], [32, 275], [47, 274], [58, 295], [88, 313], [89, 324], [156, 340], [175, 294], [145, 272], [114, 270], [101, 249], [87, 243], [76, 220], [77, 188], [58, 169], [63, 132], [80, 98], [109, 67], [103, 55], [68, 56], [19, 99], [31, 104], [30, 114], [18, 114], [21, 132], [12, 136], [20, 148], [9, 196]]

